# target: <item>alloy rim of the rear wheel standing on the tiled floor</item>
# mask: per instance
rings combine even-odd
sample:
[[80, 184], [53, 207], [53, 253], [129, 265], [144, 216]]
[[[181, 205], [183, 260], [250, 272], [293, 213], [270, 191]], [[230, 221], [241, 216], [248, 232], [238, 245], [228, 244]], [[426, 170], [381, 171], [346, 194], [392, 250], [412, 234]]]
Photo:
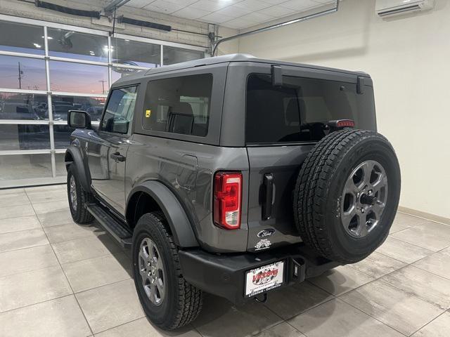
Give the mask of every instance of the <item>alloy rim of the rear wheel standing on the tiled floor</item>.
[[155, 242], [146, 237], [139, 246], [139, 273], [143, 290], [151, 303], [161, 305], [165, 297], [165, 271]]

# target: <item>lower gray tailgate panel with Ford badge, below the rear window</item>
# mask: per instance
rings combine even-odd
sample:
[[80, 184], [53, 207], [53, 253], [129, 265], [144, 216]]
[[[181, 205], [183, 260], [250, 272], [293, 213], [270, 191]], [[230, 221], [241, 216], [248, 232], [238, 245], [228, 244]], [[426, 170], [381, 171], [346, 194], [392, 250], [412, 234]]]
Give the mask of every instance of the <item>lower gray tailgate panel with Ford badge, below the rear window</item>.
[[300, 163], [312, 147], [248, 147], [249, 251], [262, 251], [268, 247], [300, 241], [293, 218], [293, 186], [300, 171]]

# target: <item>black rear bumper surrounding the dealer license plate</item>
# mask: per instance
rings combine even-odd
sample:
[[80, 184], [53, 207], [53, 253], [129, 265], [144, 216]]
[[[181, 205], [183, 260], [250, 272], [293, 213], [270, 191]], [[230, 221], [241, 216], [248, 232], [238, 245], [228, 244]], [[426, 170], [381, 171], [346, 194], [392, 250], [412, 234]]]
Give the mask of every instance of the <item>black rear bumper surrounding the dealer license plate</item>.
[[245, 272], [248, 270], [285, 261], [285, 281], [278, 287], [281, 288], [321, 275], [326, 270], [340, 265], [317, 256], [303, 244], [285, 246], [258, 254], [216, 255], [195, 249], [179, 251], [179, 259], [187, 282], [236, 304], [242, 304], [248, 300], [245, 296]]

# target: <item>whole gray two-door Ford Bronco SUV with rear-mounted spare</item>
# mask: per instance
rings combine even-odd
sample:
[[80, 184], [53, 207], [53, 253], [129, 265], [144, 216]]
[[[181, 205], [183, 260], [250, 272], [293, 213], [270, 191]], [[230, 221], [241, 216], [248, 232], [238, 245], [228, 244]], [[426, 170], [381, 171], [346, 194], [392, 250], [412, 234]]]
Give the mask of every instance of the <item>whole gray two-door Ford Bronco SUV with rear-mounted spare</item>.
[[131, 247], [162, 329], [203, 292], [244, 303], [366, 258], [392, 225], [400, 170], [363, 72], [225, 55], [113, 84], [98, 127], [72, 110], [76, 223]]

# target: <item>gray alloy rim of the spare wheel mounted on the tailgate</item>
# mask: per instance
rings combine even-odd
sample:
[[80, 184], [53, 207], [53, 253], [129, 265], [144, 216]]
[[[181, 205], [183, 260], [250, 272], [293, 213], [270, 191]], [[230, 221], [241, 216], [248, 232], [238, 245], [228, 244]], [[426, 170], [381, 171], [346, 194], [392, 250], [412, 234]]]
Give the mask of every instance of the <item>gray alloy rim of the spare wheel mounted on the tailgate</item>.
[[362, 238], [380, 223], [387, 201], [387, 175], [375, 160], [366, 160], [350, 173], [340, 200], [342, 226], [350, 236]]

